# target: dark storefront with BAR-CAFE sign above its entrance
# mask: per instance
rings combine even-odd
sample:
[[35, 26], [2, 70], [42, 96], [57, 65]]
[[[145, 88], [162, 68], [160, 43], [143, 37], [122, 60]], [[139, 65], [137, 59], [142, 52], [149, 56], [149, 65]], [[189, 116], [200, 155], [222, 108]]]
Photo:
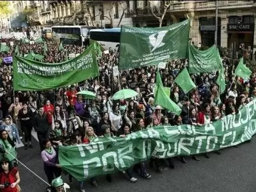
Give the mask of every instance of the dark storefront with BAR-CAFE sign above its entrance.
[[227, 33], [231, 49], [253, 49], [254, 16], [228, 17]]

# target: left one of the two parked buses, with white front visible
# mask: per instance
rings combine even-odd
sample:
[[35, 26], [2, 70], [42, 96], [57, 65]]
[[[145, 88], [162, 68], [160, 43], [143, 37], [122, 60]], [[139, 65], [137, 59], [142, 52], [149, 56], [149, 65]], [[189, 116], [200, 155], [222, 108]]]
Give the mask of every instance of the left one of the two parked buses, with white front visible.
[[59, 38], [63, 44], [87, 47], [90, 44], [89, 32], [92, 26], [52, 26], [52, 37]]

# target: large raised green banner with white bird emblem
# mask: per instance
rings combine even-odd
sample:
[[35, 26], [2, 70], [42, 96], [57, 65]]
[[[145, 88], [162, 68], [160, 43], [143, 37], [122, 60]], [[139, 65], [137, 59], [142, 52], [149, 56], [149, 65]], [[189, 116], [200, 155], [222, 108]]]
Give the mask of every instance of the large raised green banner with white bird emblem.
[[161, 61], [186, 58], [190, 20], [163, 28], [122, 26], [119, 68], [158, 65]]

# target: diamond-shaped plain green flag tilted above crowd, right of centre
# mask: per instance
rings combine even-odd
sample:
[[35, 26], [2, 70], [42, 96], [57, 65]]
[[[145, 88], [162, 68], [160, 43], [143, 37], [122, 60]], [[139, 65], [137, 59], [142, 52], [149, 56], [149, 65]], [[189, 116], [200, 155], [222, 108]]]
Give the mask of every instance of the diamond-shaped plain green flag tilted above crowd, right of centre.
[[195, 83], [192, 81], [191, 77], [188, 74], [188, 70], [185, 67], [180, 74], [175, 78], [175, 83], [177, 83], [183, 92], [186, 94], [193, 88], [196, 88]]

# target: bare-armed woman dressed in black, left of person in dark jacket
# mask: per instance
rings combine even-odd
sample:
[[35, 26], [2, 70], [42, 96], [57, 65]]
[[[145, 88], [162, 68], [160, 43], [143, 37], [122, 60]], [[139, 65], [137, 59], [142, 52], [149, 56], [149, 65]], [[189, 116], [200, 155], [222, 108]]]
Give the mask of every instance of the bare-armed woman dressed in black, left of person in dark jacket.
[[25, 135], [25, 149], [33, 148], [31, 143], [31, 131], [33, 129], [32, 119], [33, 119], [33, 111], [28, 108], [28, 104], [24, 102], [22, 104], [22, 109], [20, 109], [18, 118], [20, 120], [21, 130]]

